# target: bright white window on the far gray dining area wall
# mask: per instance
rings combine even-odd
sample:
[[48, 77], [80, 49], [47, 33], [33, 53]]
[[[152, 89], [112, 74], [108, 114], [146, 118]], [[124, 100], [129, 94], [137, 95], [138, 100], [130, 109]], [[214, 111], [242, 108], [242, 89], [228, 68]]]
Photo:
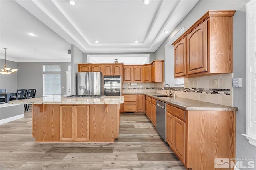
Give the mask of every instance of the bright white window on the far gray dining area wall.
[[60, 65], [43, 65], [43, 96], [61, 95]]

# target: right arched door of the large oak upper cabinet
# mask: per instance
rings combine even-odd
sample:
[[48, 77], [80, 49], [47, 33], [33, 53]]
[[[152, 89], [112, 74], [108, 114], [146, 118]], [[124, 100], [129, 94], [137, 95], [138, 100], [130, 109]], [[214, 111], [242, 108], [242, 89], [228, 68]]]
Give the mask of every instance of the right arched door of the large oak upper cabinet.
[[188, 74], [207, 71], [207, 21], [187, 36]]

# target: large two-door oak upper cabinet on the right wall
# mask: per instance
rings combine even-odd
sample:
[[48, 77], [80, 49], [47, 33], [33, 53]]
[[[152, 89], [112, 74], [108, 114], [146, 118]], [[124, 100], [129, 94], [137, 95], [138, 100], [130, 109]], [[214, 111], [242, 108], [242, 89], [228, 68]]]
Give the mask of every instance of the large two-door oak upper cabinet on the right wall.
[[233, 72], [235, 12], [235, 10], [208, 11], [174, 41], [172, 45], [174, 45], [175, 78]]

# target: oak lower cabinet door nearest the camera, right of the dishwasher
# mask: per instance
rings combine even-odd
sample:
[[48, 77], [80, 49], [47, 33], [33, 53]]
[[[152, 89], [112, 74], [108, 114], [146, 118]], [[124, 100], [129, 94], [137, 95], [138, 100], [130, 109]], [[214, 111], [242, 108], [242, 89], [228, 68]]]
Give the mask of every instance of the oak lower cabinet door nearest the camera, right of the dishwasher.
[[174, 117], [174, 152], [180, 160], [186, 163], [186, 123]]

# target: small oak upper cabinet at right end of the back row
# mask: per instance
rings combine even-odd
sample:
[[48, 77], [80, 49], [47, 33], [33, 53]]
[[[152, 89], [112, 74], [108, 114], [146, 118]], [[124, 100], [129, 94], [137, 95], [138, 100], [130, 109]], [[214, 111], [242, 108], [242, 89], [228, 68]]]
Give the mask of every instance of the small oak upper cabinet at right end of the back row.
[[155, 60], [151, 64], [151, 82], [164, 81], [164, 61]]

